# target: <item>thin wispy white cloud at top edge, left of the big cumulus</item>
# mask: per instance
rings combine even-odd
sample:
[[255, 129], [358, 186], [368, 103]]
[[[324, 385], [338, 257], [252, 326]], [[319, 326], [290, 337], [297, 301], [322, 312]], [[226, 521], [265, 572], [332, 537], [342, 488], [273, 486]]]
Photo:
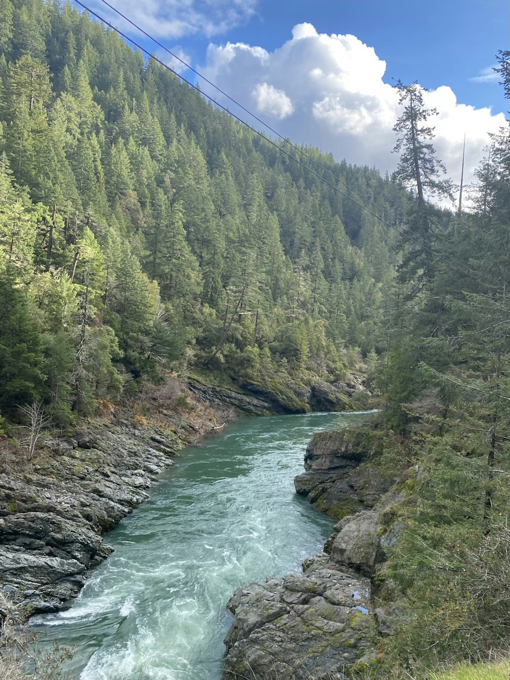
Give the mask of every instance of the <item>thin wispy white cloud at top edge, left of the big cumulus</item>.
[[[130, 24], [100, 0], [90, 0], [89, 4], [114, 26], [135, 35]], [[254, 15], [258, 0], [112, 0], [110, 4], [146, 33], [175, 39], [226, 33]]]

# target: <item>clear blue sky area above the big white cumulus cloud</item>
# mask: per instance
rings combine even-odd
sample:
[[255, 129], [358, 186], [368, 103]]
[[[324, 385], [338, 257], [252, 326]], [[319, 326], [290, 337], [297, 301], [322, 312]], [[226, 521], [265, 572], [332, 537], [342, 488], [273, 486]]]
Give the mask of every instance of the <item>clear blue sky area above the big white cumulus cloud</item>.
[[[295, 24], [310, 22], [319, 33], [351, 33], [375, 48], [387, 64], [386, 82], [449, 85], [462, 103], [507, 112], [497, 80], [470, 79], [496, 64], [498, 50], [509, 48], [509, 7], [508, 0], [260, 0], [245, 25], [211, 39], [274, 50]], [[208, 42], [180, 40], [199, 64]]]

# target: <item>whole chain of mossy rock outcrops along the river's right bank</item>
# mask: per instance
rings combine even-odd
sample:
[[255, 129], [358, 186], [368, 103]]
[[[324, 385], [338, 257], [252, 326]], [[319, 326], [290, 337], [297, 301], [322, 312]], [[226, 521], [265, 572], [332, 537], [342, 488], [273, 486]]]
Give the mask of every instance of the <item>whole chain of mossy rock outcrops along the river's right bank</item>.
[[224, 680], [340, 680], [375, 661], [388, 611], [373, 577], [395, 534], [381, 513], [400, 498], [377, 464], [380, 444], [368, 427], [321, 432], [309, 443], [296, 491], [340, 521], [303, 574], [252, 583], [229, 600]]

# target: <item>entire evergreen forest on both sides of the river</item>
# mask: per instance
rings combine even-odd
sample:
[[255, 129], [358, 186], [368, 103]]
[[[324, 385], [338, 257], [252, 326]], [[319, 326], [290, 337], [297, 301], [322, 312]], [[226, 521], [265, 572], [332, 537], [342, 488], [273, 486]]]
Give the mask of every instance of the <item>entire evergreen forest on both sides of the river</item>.
[[381, 654], [505, 645], [510, 126], [471, 203], [443, 209], [417, 84], [396, 85], [400, 161], [381, 176], [268, 143], [68, 1], [0, 0], [0, 25], [5, 421], [37, 403], [69, 430], [190, 367], [303, 411], [305, 386], [362, 367], [381, 465], [405, 471], [377, 575], [405, 616]]

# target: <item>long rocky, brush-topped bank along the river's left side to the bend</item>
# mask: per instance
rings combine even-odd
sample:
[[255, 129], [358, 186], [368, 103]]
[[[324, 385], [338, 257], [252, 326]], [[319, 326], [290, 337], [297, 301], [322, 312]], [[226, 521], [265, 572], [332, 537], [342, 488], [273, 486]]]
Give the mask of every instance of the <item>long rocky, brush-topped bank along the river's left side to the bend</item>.
[[[350, 388], [318, 385], [305, 396], [330, 410], [348, 402], [345, 389]], [[90, 568], [112, 551], [105, 532], [148, 497], [148, 488], [180, 449], [237, 415], [282, 412], [292, 412], [292, 404], [278, 403], [270, 393], [197, 378], [184, 387], [169, 379], [147, 396], [143, 409], [117, 409], [82, 422], [72, 437], [48, 437], [31, 460], [0, 441], [3, 592], [28, 614], [69, 606]]]

